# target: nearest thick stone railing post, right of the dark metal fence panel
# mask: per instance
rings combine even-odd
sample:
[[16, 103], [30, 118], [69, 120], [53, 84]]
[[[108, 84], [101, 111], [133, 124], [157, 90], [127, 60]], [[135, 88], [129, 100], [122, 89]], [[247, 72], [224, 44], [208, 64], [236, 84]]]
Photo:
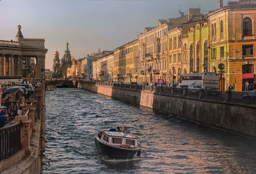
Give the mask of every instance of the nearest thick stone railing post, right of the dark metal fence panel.
[[21, 148], [25, 150], [26, 155], [31, 154], [31, 147], [30, 147], [30, 123], [31, 120], [21, 120], [22, 126], [20, 131], [21, 136]]

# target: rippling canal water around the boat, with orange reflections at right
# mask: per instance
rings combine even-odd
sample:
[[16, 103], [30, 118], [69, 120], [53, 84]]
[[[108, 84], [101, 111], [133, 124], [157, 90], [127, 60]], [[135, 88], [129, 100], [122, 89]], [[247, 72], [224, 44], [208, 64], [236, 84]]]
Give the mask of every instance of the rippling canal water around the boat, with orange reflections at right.
[[[88, 91], [46, 92], [42, 173], [256, 173], [256, 140]], [[205, 113], [207, 114], [207, 113]], [[97, 131], [128, 126], [141, 157], [97, 154]]]

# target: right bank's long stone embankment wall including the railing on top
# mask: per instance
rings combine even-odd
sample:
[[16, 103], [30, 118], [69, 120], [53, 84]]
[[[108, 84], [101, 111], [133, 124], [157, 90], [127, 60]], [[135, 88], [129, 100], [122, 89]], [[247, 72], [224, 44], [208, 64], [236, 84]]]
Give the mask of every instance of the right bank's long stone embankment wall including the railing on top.
[[244, 101], [243, 92], [189, 91], [93, 82], [78, 82], [77, 87], [211, 126], [256, 136], [256, 103]]

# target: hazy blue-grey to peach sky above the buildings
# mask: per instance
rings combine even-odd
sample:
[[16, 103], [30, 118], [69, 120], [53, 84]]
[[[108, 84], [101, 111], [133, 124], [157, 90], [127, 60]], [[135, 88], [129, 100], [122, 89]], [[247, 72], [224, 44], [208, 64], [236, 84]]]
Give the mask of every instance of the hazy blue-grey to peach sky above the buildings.
[[75, 59], [113, 50], [158, 19], [179, 17], [179, 4], [185, 14], [188, 8], [207, 13], [218, 0], [1, 0], [0, 40], [14, 40], [21, 25], [24, 38], [45, 39], [45, 66], [52, 69], [54, 52], [61, 58], [67, 41]]

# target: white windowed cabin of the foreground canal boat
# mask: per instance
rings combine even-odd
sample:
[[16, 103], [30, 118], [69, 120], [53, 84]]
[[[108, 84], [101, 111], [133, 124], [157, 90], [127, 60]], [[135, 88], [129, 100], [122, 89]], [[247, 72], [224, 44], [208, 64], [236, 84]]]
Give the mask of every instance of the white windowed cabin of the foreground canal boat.
[[138, 138], [132, 134], [114, 132], [114, 131], [103, 131], [99, 133], [99, 138], [102, 142], [111, 146], [118, 146], [124, 148], [136, 148], [138, 147]]

